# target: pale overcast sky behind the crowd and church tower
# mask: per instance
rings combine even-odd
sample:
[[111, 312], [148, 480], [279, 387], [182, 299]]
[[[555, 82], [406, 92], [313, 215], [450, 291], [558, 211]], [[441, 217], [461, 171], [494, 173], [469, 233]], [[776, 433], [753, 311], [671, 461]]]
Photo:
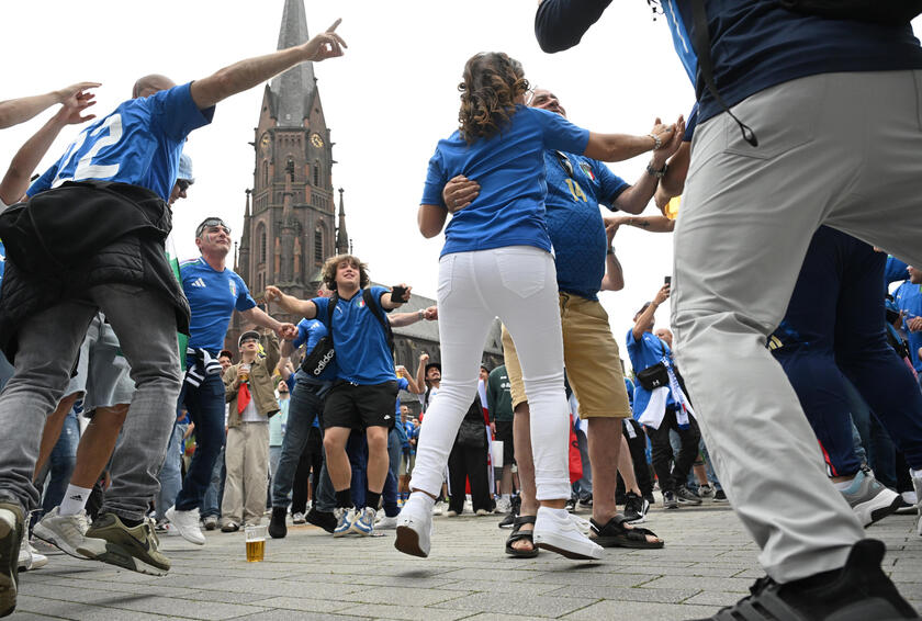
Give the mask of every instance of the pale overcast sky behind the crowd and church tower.
[[[518, 58], [532, 84], [561, 99], [571, 121], [598, 132], [645, 134], [655, 116], [687, 114], [694, 92], [662, 16], [644, 0], [618, 0], [576, 48], [543, 54], [535, 41], [536, 0], [305, 0], [311, 34], [342, 18], [342, 58], [315, 66], [321, 100], [335, 143], [334, 188], [346, 190], [355, 252], [378, 282], [405, 281], [435, 297], [443, 238], [426, 240], [416, 228], [426, 165], [439, 138], [457, 126], [457, 84], [464, 61], [483, 50]], [[3, 2], [0, 38], [4, 79], [0, 99], [44, 92], [80, 80], [97, 90], [102, 116], [131, 97], [142, 75], [177, 82], [207, 76], [245, 57], [276, 48], [283, 0], [160, 0]], [[196, 182], [177, 204], [180, 258], [196, 255], [194, 226], [221, 215], [235, 239], [243, 224], [244, 190], [252, 187], [254, 127], [262, 89], [217, 106], [214, 122], [195, 131], [187, 153]], [[4, 131], [0, 166], [50, 115]], [[79, 132], [70, 127], [40, 171]], [[611, 165], [632, 183], [649, 156]], [[655, 212], [651, 205], [646, 213]], [[75, 232], [76, 233], [76, 232]], [[627, 286], [600, 296], [627, 360], [623, 338], [637, 308], [671, 273], [672, 235], [621, 229], [615, 246]], [[666, 325], [668, 310], [657, 314]]]

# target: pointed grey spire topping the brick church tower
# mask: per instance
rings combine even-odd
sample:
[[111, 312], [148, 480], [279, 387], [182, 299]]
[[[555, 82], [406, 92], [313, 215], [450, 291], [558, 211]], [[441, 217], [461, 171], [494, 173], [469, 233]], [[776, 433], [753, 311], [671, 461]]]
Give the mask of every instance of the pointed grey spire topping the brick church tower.
[[[306, 43], [308, 38], [304, 0], [285, 0], [278, 48], [288, 49]], [[269, 89], [274, 100], [278, 127], [304, 126], [304, 118], [311, 112], [315, 82], [313, 63], [301, 63], [272, 78]]]

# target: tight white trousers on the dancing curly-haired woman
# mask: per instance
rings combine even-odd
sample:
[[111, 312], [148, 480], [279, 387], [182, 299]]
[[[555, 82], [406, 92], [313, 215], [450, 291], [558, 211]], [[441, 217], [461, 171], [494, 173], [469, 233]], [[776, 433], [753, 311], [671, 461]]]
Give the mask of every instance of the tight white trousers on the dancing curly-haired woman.
[[458, 427], [477, 392], [483, 343], [498, 315], [521, 362], [538, 499], [569, 498], [570, 413], [553, 258], [531, 246], [446, 255], [439, 261], [438, 302], [442, 379], [423, 418], [411, 488], [439, 494]]

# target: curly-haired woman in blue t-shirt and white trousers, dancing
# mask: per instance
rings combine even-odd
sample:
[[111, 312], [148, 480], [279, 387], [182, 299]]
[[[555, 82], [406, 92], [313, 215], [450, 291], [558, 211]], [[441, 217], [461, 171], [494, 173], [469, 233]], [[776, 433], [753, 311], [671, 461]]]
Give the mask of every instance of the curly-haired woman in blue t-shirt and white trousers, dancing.
[[[439, 260], [442, 381], [420, 429], [413, 494], [397, 521], [395, 546], [416, 556], [429, 553], [431, 506], [476, 391], [484, 339], [498, 315], [515, 339], [531, 406], [541, 503], [535, 543], [571, 558], [599, 558], [601, 547], [573, 526], [563, 508], [570, 498], [570, 418], [556, 274], [544, 225], [544, 150], [616, 161], [666, 146], [676, 127], [657, 122], [646, 136], [595, 134], [559, 114], [526, 108], [521, 65], [502, 53], [469, 59], [458, 88], [461, 125], [439, 142], [429, 160], [418, 213], [424, 237], [441, 233], [449, 211], [454, 214]], [[442, 190], [458, 174], [475, 179], [480, 194], [470, 204], [446, 205]]]

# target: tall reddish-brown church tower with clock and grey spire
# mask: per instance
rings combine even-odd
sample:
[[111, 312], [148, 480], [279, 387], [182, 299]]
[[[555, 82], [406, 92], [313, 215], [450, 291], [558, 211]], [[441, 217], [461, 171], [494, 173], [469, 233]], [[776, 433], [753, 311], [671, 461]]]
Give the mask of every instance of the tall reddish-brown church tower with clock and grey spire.
[[[308, 38], [303, 0], [284, 0], [278, 49]], [[302, 63], [266, 86], [254, 138], [256, 166], [252, 189], [247, 190], [240, 276], [257, 300], [268, 284], [313, 297], [324, 261], [346, 235], [340, 218], [337, 236], [333, 144], [313, 63]], [[271, 312], [280, 320], [300, 319], [278, 308]]]

